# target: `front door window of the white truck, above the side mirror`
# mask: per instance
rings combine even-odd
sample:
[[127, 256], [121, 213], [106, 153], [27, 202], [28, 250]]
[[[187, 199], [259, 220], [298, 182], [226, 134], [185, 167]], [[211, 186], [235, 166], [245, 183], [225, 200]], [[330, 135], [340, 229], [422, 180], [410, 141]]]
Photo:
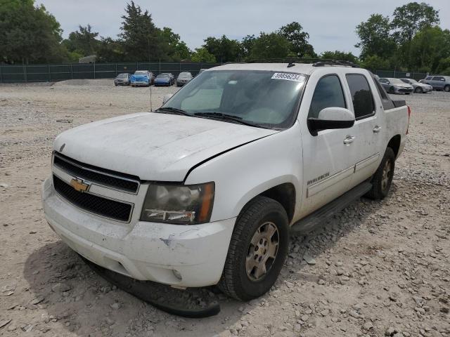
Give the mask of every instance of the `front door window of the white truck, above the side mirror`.
[[336, 75], [328, 75], [319, 79], [309, 106], [308, 117], [319, 117], [319, 112], [326, 107], [346, 107], [344, 92], [339, 77]]

